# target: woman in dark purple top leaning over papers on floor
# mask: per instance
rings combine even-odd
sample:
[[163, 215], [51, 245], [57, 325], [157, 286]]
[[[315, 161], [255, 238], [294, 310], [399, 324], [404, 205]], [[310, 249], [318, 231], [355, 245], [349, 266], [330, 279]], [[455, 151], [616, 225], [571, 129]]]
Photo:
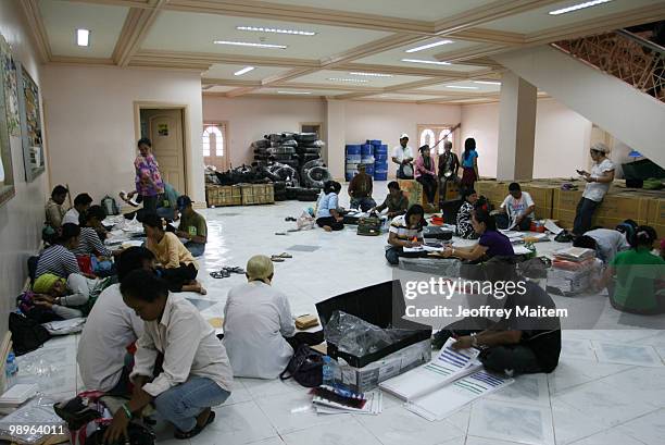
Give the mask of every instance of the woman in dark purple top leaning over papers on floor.
[[497, 231], [494, 217], [486, 210], [477, 209], [472, 213], [474, 231], [480, 235], [478, 244], [472, 247], [449, 247], [441, 256], [456, 257], [462, 260], [480, 262], [494, 257], [512, 258], [515, 256], [511, 240]]

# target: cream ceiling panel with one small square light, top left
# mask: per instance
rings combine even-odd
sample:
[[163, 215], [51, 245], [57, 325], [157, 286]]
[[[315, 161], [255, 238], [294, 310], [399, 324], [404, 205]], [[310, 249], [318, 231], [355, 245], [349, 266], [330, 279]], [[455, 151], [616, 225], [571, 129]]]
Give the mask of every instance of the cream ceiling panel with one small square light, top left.
[[[111, 58], [128, 8], [40, 0], [39, 10], [54, 55]], [[90, 45], [76, 45], [76, 29], [90, 30]]]

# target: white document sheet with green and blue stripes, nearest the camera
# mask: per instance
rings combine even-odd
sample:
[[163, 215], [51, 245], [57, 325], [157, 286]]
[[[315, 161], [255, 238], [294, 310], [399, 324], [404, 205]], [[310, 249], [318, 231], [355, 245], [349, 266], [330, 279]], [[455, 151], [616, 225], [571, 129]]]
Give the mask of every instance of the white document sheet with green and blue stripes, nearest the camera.
[[431, 394], [409, 401], [406, 409], [430, 422], [435, 422], [459, 411], [477, 398], [502, 390], [513, 382], [513, 379], [480, 370]]

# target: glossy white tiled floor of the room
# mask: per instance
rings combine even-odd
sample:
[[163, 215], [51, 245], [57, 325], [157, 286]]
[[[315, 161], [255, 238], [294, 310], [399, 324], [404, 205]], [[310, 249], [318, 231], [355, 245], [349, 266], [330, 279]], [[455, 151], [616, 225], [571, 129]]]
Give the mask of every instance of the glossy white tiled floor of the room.
[[[384, 188], [375, 185], [377, 191]], [[341, 202], [348, 203], [348, 197]], [[215, 280], [209, 272], [222, 265], [244, 267], [255, 254], [293, 255], [275, 264], [274, 285], [289, 296], [294, 314], [315, 313], [319, 300], [392, 277], [382, 236], [356, 236], [352, 228], [275, 235], [293, 226], [284, 221], [286, 217], [298, 217], [311, 205], [287, 201], [204, 211], [210, 243], [200, 277], [209, 293], [188, 295], [199, 300], [204, 317], [219, 317], [228, 288], [244, 280], [243, 275]], [[302, 246], [319, 248], [306, 251], [312, 249]], [[538, 248], [542, 252], [553, 245]], [[602, 308], [597, 326], [607, 330], [564, 331], [561, 362], [553, 373], [517, 378], [503, 392], [442, 421], [428, 422], [388, 395], [384, 412], [376, 417], [317, 416], [306, 390], [297, 384], [237, 379], [230, 399], [215, 409], [215, 423], [192, 445], [663, 445], [665, 331], [612, 330], [618, 316], [605, 300], [594, 298]], [[59, 398], [83, 390], [76, 371], [77, 341], [77, 336], [52, 339], [18, 358], [21, 380], [37, 381], [45, 393]], [[170, 437], [168, 430], [162, 431], [159, 442], [175, 445]]]

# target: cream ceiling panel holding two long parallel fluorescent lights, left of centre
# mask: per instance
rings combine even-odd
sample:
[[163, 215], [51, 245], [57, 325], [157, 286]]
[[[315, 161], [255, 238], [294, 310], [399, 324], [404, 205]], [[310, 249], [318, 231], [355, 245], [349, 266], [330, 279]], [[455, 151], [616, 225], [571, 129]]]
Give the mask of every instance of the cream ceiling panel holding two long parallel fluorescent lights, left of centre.
[[[315, 36], [267, 34], [236, 29], [237, 26], [271, 27], [312, 30]], [[178, 32], [174, 32], [177, 29]], [[162, 51], [215, 52], [275, 58], [322, 59], [373, 40], [390, 33], [341, 28], [336, 26], [288, 23], [262, 18], [231, 17], [165, 11], [152, 25], [143, 41], [143, 49]], [[214, 40], [285, 45], [286, 49], [266, 49], [215, 45]]]

